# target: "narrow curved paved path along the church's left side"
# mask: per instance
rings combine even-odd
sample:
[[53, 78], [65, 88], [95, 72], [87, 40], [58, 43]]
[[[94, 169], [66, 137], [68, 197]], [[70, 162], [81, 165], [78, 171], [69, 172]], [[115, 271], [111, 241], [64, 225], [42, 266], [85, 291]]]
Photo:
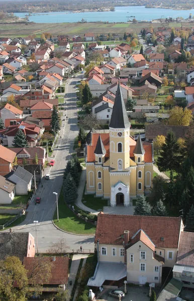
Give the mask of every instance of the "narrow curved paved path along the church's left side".
[[81, 177], [80, 177], [80, 180], [79, 180], [79, 186], [78, 186], [78, 189], [77, 189], [78, 197], [77, 197], [77, 200], [75, 202], [75, 205], [77, 207], [79, 207], [80, 209], [84, 210], [84, 211], [89, 211], [89, 212], [91, 212], [95, 215], [98, 215], [99, 211], [93, 210], [93, 209], [83, 205], [83, 203], [81, 202], [83, 191], [84, 191], [84, 188], [85, 188], [85, 182], [86, 182], [86, 170], [82, 170]]

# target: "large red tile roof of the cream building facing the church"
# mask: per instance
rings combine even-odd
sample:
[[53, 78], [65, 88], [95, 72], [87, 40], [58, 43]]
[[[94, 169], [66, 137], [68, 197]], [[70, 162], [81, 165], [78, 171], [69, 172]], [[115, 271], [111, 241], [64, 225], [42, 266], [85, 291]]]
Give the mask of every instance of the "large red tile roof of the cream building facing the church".
[[125, 230], [129, 231], [129, 239], [131, 239], [139, 229], [142, 229], [157, 248], [177, 248], [180, 225], [180, 217], [100, 213], [95, 231], [95, 242], [99, 239], [100, 244], [121, 245], [123, 244], [121, 235]]

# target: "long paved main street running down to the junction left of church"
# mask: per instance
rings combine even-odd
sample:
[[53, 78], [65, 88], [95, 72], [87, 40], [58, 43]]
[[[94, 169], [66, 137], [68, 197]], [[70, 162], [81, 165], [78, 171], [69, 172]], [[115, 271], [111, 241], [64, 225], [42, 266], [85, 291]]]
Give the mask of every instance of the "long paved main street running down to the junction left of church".
[[[61, 132], [59, 134], [58, 144], [59, 147], [55, 149], [55, 165], [49, 168], [46, 173], [50, 173], [50, 181], [42, 180], [43, 188], [41, 185], [37, 190], [37, 196], [41, 195], [41, 203], [35, 206], [34, 202], [28, 207], [28, 214], [25, 221], [14, 227], [13, 230], [17, 232], [31, 232], [36, 239], [36, 228], [38, 237], [38, 251], [45, 252], [52, 242], [57, 242], [60, 238], [65, 238], [68, 247], [68, 251], [72, 249], [79, 249], [80, 245], [83, 249], [94, 248], [93, 236], [79, 236], [64, 233], [52, 224], [52, 216], [56, 208], [56, 196], [53, 192], [57, 192], [59, 195], [62, 186], [63, 171], [66, 166], [66, 162], [70, 158], [72, 153], [74, 138], [77, 136], [77, 113], [76, 113], [76, 93], [75, 84], [80, 78], [69, 79], [65, 87], [66, 112], [68, 119], [62, 121]], [[64, 106], [65, 108], [65, 106]], [[66, 113], [65, 110], [63, 114]], [[65, 116], [62, 118], [64, 119]], [[60, 135], [62, 138], [60, 139]], [[53, 159], [53, 158], [52, 158]], [[35, 227], [34, 221], [38, 221], [37, 227]], [[7, 230], [8, 231], [8, 230]]]

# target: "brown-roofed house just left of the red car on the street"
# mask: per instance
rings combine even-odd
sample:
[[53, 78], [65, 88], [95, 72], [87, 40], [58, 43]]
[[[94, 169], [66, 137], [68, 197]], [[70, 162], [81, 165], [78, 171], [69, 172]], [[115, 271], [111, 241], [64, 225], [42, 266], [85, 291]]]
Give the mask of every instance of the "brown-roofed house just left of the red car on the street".
[[[10, 150], [9, 148], [6, 148]], [[19, 165], [23, 164], [23, 159], [25, 158], [28, 165], [34, 164], [34, 157], [37, 154], [38, 164], [44, 166], [46, 161], [46, 149], [41, 146], [36, 147], [12, 147], [13, 153], [17, 157], [17, 162]]]

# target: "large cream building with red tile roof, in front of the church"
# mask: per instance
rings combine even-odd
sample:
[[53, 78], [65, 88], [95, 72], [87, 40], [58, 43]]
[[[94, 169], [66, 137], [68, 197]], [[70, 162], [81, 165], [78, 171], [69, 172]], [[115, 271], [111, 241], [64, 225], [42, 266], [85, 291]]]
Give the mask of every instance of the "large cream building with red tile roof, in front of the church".
[[174, 266], [182, 231], [180, 217], [100, 213], [95, 232], [98, 264], [87, 285], [100, 287], [114, 281], [118, 287], [127, 280], [161, 286], [162, 269]]

